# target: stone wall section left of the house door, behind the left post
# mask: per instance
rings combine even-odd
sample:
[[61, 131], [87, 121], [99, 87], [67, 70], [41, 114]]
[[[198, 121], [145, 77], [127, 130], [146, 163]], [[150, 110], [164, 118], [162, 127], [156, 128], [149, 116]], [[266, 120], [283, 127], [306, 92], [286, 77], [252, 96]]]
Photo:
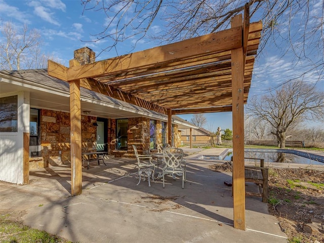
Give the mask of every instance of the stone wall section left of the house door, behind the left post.
[[[29, 169], [45, 168], [69, 162], [70, 113], [41, 109], [40, 117], [41, 156], [29, 158]], [[82, 152], [95, 150], [97, 127], [95, 116], [81, 116]], [[61, 151], [61, 158], [59, 158]]]

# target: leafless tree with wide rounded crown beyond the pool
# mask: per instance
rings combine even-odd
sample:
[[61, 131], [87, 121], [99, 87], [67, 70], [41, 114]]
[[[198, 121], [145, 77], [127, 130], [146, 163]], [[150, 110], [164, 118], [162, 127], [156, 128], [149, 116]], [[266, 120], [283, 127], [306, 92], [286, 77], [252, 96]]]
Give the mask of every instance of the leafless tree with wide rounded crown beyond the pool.
[[251, 116], [267, 121], [278, 146], [285, 148], [289, 129], [296, 128], [306, 119], [321, 119], [324, 115], [324, 93], [297, 80], [261, 98], [252, 98], [247, 111]]

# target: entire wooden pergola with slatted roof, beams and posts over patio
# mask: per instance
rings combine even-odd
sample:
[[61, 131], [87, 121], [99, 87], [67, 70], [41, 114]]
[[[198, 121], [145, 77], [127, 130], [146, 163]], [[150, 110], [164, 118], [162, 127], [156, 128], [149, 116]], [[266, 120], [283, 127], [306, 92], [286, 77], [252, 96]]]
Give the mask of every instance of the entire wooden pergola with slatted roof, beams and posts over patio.
[[246, 229], [244, 104], [248, 100], [262, 23], [237, 15], [231, 28], [124, 56], [48, 73], [70, 85], [71, 193], [82, 193], [80, 87], [168, 115], [232, 111], [234, 228]]

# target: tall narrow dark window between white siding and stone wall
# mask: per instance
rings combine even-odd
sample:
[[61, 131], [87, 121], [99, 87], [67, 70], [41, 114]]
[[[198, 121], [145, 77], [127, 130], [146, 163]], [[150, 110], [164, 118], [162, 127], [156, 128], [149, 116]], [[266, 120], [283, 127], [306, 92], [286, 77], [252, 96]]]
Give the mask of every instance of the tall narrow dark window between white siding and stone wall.
[[39, 146], [39, 112], [37, 109], [30, 109], [29, 118], [29, 153], [30, 157], [37, 157], [41, 152]]

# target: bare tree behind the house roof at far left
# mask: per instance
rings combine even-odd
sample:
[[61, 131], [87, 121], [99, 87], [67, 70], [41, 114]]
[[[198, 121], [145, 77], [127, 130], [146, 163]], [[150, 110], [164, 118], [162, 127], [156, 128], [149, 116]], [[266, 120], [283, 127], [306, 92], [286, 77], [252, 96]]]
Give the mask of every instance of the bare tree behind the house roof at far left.
[[11, 22], [2, 25], [4, 41], [0, 44], [0, 69], [45, 68], [52, 56], [42, 53], [41, 34], [36, 29], [21, 29]]

